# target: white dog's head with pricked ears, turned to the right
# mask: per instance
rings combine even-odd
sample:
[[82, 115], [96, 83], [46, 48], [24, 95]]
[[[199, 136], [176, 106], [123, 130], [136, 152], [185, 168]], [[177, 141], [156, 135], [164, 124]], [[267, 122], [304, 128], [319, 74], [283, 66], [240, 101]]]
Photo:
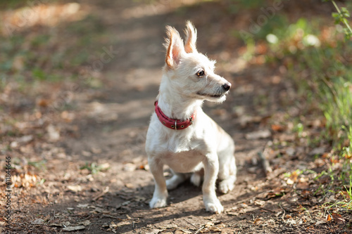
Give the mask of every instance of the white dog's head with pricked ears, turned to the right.
[[231, 84], [214, 73], [215, 61], [209, 60], [196, 49], [196, 29], [187, 22], [186, 41], [183, 43], [179, 32], [167, 26], [165, 40], [165, 74], [170, 79], [172, 89], [189, 98], [222, 102]]

